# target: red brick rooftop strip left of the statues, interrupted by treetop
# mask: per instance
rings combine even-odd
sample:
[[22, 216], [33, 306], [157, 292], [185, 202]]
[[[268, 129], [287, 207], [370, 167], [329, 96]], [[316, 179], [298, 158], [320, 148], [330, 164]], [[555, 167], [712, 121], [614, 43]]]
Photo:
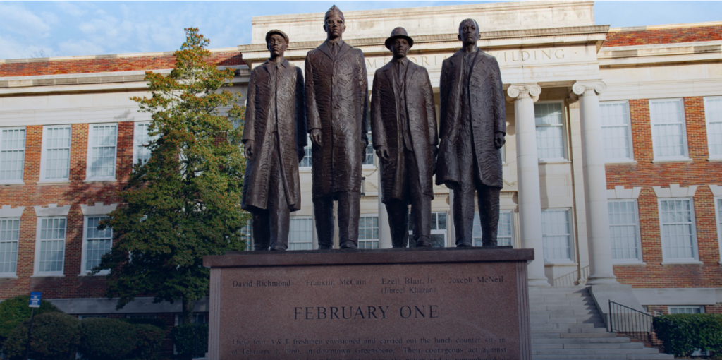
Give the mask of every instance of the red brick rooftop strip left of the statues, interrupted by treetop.
[[[209, 63], [217, 66], [243, 65], [243, 56], [238, 51], [214, 52], [208, 59]], [[131, 56], [122, 58], [109, 58], [109, 56], [95, 56], [94, 59], [29, 59], [23, 61], [9, 61], [0, 64], [0, 77], [56, 75], [56, 74], [82, 74], [90, 72], [125, 72], [131, 70], [157, 70], [170, 69], [175, 66], [175, 56]]]

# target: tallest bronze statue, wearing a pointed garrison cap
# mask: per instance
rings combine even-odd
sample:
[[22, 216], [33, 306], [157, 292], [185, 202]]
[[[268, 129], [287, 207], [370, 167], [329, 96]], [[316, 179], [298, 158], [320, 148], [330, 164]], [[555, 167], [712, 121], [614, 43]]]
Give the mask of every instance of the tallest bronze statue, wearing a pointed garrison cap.
[[360, 49], [344, 43], [344, 14], [334, 5], [324, 19], [327, 39], [306, 56], [308, 132], [318, 248], [334, 242], [334, 200], [339, 201], [339, 245], [358, 245], [361, 166], [368, 138], [368, 83]]

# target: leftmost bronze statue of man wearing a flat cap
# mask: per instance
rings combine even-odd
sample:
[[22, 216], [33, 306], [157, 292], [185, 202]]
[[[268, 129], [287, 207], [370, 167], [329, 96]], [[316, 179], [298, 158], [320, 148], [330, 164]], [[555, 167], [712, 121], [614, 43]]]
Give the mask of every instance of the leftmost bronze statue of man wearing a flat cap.
[[290, 212], [301, 207], [298, 163], [306, 145], [303, 72], [283, 57], [288, 36], [266, 33], [270, 59], [248, 81], [241, 207], [253, 214], [253, 249], [288, 249]]

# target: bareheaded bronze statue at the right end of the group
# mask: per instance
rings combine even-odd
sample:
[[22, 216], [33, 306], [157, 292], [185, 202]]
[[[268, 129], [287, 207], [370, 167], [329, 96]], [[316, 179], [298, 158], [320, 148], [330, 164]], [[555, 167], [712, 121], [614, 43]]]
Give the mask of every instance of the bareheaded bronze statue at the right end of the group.
[[436, 184], [453, 189], [456, 246], [474, 244], [474, 191], [478, 192], [482, 244], [497, 244], [503, 187], [500, 147], [506, 135], [504, 90], [497, 60], [477, 48], [479, 25], [458, 26], [463, 46], [441, 67], [440, 148]]

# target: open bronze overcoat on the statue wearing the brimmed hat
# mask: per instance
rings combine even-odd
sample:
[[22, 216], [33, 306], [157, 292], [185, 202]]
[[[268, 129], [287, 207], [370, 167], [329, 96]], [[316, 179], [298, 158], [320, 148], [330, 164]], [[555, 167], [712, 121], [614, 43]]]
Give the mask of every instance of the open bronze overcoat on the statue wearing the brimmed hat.
[[[436, 132], [436, 111], [434, 108], [434, 93], [425, 67], [409, 61], [406, 67], [406, 103], [398, 103], [396, 94], [396, 77], [393, 74], [393, 64], [376, 70], [373, 76], [373, 95], [371, 96], [371, 136], [373, 146], [386, 146], [389, 160], [381, 161], [381, 187], [383, 195], [381, 202], [390, 200], [403, 200], [404, 168], [397, 164], [402, 163], [404, 156], [404, 138], [401, 134], [400, 111], [407, 111], [409, 132], [411, 134], [414, 155], [419, 166], [419, 184], [421, 191], [432, 199], [432, 176], [434, 173], [434, 156], [430, 145], [438, 144]], [[404, 108], [405, 107], [405, 108]]]

